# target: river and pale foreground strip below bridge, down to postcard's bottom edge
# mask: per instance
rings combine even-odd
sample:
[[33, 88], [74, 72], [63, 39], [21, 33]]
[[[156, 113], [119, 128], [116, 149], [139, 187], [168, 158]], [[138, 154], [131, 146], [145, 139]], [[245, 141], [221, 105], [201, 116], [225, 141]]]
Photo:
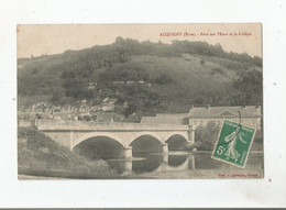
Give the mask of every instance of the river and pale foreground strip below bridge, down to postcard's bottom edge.
[[245, 168], [211, 158], [210, 152], [133, 153], [132, 159], [108, 159], [111, 168], [132, 178], [261, 178], [263, 153], [250, 153]]

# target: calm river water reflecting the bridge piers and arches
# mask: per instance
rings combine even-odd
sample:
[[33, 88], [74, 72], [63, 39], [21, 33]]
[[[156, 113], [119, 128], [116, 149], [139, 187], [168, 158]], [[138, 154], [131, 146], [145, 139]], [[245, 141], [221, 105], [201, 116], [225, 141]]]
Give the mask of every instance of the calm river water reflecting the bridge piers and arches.
[[[143, 174], [167, 170], [233, 169], [234, 166], [211, 158], [211, 153], [133, 153], [133, 159], [110, 159], [109, 165], [119, 174]], [[237, 167], [234, 167], [235, 169]], [[250, 154], [245, 169], [262, 169], [263, 154]]]

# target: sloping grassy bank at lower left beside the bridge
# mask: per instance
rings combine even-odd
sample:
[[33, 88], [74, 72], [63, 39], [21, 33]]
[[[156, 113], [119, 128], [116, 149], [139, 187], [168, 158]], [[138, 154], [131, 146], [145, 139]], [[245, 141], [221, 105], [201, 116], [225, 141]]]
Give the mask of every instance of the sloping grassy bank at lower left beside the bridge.
[[118, 177], [105, 161], [80, 157], [31, 128], [18, 130], [18, 174], [81, 179]]

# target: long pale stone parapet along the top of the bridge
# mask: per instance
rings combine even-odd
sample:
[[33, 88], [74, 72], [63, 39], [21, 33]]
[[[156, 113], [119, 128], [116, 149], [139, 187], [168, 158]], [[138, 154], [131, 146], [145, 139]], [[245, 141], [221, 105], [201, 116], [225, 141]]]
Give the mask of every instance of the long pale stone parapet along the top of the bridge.
[[184, 124], [141, 124], [141, 123], [96, 123], [90, 121], [42, 120], [36, 119], [34, 125], [43, 131], [188, 131]]

